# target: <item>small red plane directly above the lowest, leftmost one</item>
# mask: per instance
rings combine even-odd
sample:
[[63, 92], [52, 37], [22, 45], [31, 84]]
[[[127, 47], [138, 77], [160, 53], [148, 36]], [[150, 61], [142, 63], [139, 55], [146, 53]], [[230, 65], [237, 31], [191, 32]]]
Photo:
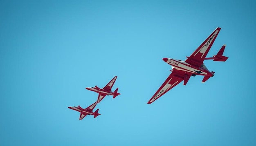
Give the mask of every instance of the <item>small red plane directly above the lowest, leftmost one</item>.
[[117, 97], [117, 95], [120, 95], [120, 93], [117, 93], [118, 88], [114, 92], [112, 92], [112, 90], [111, 90], [116, 79], [117, 79], [117, 76], [115, 76], [104, 88], [99, 88], [99, 87], [95, 86], [95, 87], [86, 88], [86, 89], [99, 93], [98, 101], [97, 101], [98, 103], [101, 102], [101, 100], [103, 100], [103, 98], [106, 95], [113, 95], [113, 98], [115, 98], [115, 97]]

